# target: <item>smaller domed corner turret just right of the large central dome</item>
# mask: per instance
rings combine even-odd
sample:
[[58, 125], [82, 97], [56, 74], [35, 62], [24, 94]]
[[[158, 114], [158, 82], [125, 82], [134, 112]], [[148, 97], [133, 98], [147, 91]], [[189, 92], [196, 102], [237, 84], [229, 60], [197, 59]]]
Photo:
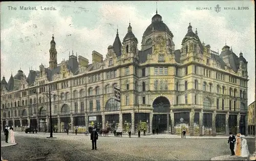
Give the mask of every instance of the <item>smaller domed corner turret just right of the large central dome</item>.
[[192, 26], [189, 23], [187, 27], [187, 33], [182, 40], [182, 55], [189, 55], [190, 53], [203, 53], [203, 45], [198, 37], [197, 29], [196, 33], [193, 32]]

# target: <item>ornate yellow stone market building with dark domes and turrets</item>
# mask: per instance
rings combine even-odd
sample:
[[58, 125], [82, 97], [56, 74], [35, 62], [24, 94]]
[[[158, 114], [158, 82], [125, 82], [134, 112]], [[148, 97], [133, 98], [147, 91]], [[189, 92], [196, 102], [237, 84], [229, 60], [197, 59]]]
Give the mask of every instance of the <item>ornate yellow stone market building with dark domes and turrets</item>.
[[[132, 133], [138, 128], [180, 133], [183, 118], [182, 128], [191, 135], [246, 134], [248, 72], [243, 53], [233, 53], [226, 44], [220, 54], [212, 51], [190, 23], [180, 30], [187, 33], [181, 49], [175, 49], [173, 33], [156, 13], [143, 33], [141, 50], [129, 24], [122, 42], [117, 32], [105, 59], [92, 52], [92, 63], [72, 51], [58, 64], [52, 37], [49, 67], [41, 64], [28, 77], [18, 70], [8, 83], [3, 77], [2, 125], [49, 129], [49, 99], [34, 91], [51, 90], [62, 96], [51, 99], [52, 122], [59, 132], [97, 125], [123, 132], [131, 128]], [[113, 86], [121, 88], [121, 102], [114, 99]]]

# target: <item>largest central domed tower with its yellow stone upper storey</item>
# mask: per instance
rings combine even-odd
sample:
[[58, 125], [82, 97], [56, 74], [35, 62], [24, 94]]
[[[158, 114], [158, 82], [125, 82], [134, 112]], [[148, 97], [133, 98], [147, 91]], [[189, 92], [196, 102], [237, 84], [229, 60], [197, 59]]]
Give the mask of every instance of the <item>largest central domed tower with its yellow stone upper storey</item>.
[[153, 53], [173, 53], [175, 44], [173, 33], [164, 24], [162, 16], [156, 14], [152, 17], [151, 25], [148, 26], [142, 36], [141, 50], [152, 48]]

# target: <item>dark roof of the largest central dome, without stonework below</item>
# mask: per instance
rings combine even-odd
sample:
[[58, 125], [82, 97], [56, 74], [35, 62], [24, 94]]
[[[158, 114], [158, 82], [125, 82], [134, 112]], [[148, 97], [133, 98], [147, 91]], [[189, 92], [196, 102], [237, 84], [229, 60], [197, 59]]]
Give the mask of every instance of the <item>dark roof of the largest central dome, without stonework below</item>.
[[169, 30], [167, 25], [165, 25], [164, 22], [162, 21], [162, 16], [158, 13], [156, 13], [152, 17], [152, 23], [150, 26], [146, 28], [145, 32], [143, 33], [143, 36], [149, 35], [153, 31], [166, 31], [167, 33], [173, 36], [173, 33]]

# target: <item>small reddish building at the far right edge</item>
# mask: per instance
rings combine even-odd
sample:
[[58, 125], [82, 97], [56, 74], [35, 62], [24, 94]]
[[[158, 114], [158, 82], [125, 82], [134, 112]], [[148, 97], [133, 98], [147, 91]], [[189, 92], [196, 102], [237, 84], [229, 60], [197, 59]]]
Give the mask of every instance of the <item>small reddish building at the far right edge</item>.
[[256, 102], [252, 102], [248, 106], [248, 135], [255, 135], [255, 125], [256, 125]]

